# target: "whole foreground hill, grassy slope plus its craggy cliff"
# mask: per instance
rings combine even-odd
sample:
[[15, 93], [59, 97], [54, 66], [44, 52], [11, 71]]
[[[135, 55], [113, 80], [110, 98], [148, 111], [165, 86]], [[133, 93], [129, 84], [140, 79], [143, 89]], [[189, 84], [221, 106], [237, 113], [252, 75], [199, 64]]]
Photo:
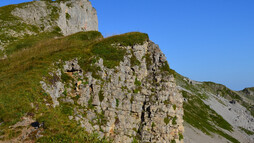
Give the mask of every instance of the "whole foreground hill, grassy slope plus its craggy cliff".
[[[3, 141], [182, 139], [181, 94], [146, 34], [103, 38], [91, 31], [43, 40], [0, 67]], [[43, 127], [30, 126], [35, 121]]]

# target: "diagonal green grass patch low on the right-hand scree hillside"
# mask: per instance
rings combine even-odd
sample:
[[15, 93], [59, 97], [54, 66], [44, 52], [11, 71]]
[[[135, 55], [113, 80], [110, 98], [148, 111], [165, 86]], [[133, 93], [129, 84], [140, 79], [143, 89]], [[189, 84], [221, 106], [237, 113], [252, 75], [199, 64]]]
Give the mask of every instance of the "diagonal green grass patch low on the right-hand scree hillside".
[[[208, 105], [206, 105], [198, 96], [191, 95], [185, 91], [182, 91], [183, 97], [188, 99], [188, 102], [184, 102], [184, 116], [183, 119], [193, 127], [200, 129], [207, 135], [211, 133], [216, 133], [228, 139], [233, 143], [239, 143], [235, 138], [224, 133], [216, 126], [233, 131], [233, 127], [224, 120], [220, 115], [218, 115], [214, 110], [212, 110]], [[216, 126], [215, 126], [216, 125]]]

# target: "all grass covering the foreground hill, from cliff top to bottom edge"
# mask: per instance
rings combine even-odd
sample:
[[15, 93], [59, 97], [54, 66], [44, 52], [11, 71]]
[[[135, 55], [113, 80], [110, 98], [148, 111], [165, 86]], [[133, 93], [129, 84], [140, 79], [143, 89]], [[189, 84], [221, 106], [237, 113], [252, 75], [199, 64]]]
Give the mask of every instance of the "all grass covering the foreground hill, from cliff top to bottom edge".
[[[66, 61], [78, 57], [79, 64], [88, 72], [93, 69], [89, 68], [90, 61], [94, 56], [99, 56], [105, 60], [105, 66], [113, 68], [123, 60], [125, 52], [112, 44], [132, 46], [147, 40], [147, 34], [137, 32], [106, 39], [103, 39], [99, 32], [80, 32], [68, 37], [37, 41], [34, 46], [14, 52], [8, 59], [0, 62], [0, 122], [3, 122], [0, 130], [5, 130], [9, 134], [10, 125], [15, 124], [27, 113], [33, 113], [37, 120], [46, 122], [45, 132], [50, 135], [45, 136], [40, 142], [60, 138], [66, 142], [71, 138], [75, 138], [75, 141], [96, 138], [96, 136], [87, 136], [76, 123], [69, 121], [62, 107], [55, 109], [46, 107], [43, 98], [50, 99], [50, 97], [41, 89], [39, 82], [42, 77], [48, 76], [50, 72], [48, 68], [59, 59]], [[23, 44], [26, 42], [30, 43], [29, 40], [24, 40]], [[118, 55], [116, 58], [110, 54]], [[31, 108], [30, 103], [34, 103], [38, 110]], [[41, 116], [40, 113], [45, 114]]]

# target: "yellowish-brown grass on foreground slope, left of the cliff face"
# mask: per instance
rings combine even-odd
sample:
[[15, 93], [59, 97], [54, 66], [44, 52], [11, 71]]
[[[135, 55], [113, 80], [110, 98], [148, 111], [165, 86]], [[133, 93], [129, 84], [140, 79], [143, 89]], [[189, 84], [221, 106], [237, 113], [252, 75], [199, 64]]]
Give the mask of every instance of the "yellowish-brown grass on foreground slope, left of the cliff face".
[[[85, 35], [102, 37], [95, 33], [98, 32], [87, 32]], [[79, 34], [84, 33], [76, 35]], [[43, 41], [34, 47], [14, 52], [8, 59], [2, 60], [0, 120], [4, 121], [4, 124], [1, 128], [15, 124], [28, 112], [35, 112], [30, 106], [31, 102], [40, 107], [36, 113], [44, 112], [46, 107], [43, 98], [50, 97], [42, 92], [40, 81], [43, 76], [48, 75], [48, 68], [58, 59], [71, 60], [76, 56], [88, 56], [90, 52], [86, 51], [86, 47], [93, 41], [69, 40], [69, 37]]]

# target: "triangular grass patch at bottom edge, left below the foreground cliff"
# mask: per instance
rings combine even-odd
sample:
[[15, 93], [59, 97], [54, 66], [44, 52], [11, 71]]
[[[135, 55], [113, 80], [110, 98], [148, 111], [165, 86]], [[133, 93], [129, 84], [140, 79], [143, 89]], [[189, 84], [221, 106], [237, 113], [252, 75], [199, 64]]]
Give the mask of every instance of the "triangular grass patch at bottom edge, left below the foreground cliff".
[[44, 121], [44, 136], [37, 140], [38, 143], [48, 142], [87, 142], [87, 143], [108, 143], [108, 139], [100, 139], [99, 135], [88, 134], [84, 128], [81, 128], [76, 122], [70, 121], [68, 116], [61, 114], [62, 109], [57, 107], [54, 110], [47, 111], [38, 121]]

